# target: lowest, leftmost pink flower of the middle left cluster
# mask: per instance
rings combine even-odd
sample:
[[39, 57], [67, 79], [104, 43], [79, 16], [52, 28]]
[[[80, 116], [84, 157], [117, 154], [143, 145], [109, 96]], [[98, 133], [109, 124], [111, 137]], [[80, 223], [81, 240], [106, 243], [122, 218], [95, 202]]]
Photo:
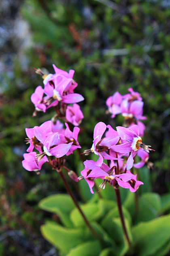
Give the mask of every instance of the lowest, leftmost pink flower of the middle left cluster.
[[43, 156], [40, 161], [36, 159], [36, 152], [23, 154], [24, 160], [22, 166], [28, 171], [39, 171], [45, 162], [48, 162], [47, 156]]

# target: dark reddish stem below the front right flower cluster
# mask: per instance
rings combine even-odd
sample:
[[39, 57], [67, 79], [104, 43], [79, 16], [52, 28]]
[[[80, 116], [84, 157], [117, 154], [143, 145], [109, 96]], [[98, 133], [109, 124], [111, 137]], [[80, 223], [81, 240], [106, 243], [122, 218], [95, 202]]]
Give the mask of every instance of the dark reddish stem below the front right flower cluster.
[[121, 224], [122, 224], [123, 232], [125, 234], [127, 243], [128, 243], [128, 245], [130, 247], [130, 251], [132, 252], [133, 251], [132, 250], [132, 244], [130, 242], [129, 236], [127, 234], [126, 226], [125, 226], [125, 221], [124, 221], [124, 216], [123, 216], [123, 211], [122, 211], [122, 206], [121, 206], [121, 195], [120, 195], [119, 188], [115, 189], [115, 193], [116, 193], [117, 206], [118, 206], [118, 210], [119, 210], [119, 216], [121, 218]]

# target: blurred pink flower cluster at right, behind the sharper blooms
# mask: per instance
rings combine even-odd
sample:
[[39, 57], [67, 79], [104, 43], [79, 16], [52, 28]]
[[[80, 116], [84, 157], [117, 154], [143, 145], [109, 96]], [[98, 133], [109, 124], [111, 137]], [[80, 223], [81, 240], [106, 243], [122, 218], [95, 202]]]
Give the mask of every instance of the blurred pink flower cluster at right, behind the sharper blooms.
[[144, 136], [145, 126], [139, 120], [145, 120], [147, 117], [143, 116], [143, 102], [140, 93], [135, 92], [129, 88], [125, 95], [121, 95], [118, 91], [113, 96], [108, 97], [106, 105], [111, 117], [114, 118], [118, 114], [122, 114], [125, 118], [124, 126], [129, 127], [137, 124], [140, 130], [140, 136]]

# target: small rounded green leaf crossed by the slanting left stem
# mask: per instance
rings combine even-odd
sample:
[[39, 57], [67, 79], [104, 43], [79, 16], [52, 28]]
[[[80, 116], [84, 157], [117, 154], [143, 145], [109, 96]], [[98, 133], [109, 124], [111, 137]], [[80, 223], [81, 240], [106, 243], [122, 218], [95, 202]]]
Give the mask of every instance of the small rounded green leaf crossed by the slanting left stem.
[[[103, 209], [97, 203], [84, 204], [81, 209], [89, 221], [98, 220], [103, 214]], [[70, 213], [70, 219], [75, 227], [85, 226], [85, 221], [77, 208]]]

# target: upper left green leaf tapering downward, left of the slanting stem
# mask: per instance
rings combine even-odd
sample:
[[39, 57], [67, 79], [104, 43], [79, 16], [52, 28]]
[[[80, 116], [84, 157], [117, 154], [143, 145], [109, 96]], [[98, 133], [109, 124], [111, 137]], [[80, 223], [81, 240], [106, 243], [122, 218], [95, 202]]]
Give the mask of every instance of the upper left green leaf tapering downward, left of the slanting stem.
[[56, 213], [62, 223], [67, 227], [72, 227], [72, 222], [69, 219], [70, 212], [75, 208], [69, 195], [59, 194], [50, 195], [39, 202], [39, 207], [51, 213]]

